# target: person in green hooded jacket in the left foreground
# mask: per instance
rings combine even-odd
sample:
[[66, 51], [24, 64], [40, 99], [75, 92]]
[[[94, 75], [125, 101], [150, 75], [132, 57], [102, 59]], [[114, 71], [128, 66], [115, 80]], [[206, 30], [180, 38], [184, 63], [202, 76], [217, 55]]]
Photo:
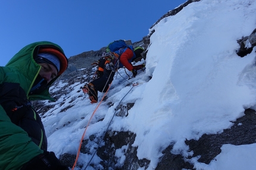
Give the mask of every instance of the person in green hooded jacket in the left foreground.
[[49, 87], [67, 69], [52, 42], [25, 46], [0, 67], [0, 169], [68, 169], [47, 151], [42, 121], [32, 100], [52, 100]]

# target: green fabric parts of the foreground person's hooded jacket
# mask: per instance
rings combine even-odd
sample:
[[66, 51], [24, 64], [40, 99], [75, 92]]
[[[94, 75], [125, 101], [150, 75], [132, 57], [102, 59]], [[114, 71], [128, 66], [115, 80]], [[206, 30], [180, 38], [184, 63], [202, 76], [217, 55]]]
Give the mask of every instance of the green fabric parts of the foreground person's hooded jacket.
[[[0, 67], [0, 85], [19, 84], [23, 93], [26, 93], [27, 100], [54, 100], [49, 95], [49, 87], [38, 95], [29, 95], [41, 68], [33, 59], [40, 47], [55, 48], [64, 54], [60, 46], [51, 42], [36, 42], [27, 45], [15, 54], [5, 67]], [[58, 77], [59, 75], [49, 85], [54, 83]], [[0, 89], [1, 94], [5, 93], [1, 91], [2, 89]], [[0, 95], [0, 100], [8, 97], [8, 95]], [[8, 100], [12, 99], [9, 97]], [[1, 105], [0, 129], [0, 169], [20, 169], [24, 163], [43, 153], [43, 150], [32, 141], [26, 131], [11, 122]]]

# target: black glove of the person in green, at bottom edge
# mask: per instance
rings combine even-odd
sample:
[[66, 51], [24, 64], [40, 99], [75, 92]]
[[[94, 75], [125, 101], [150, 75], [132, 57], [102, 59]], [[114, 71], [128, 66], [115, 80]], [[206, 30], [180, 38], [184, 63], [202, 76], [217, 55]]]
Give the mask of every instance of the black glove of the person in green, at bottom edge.
[[49, 170], [68, 170], [67, 166], [61, 165], [60, 160], [55, 156], [54, 152], [43, 152], [36, 156], [30, 162], [27, 162], [21, 170], [32, 170], [32, 169], [49, 169]]

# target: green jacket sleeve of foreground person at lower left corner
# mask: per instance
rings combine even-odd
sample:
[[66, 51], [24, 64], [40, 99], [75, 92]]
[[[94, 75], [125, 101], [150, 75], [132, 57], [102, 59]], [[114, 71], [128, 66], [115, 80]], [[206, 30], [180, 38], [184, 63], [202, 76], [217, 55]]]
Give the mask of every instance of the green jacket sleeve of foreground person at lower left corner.
[[13, 124], [0, 105], [0, 169], [20, 169], [43, 153], [26, 131]]

